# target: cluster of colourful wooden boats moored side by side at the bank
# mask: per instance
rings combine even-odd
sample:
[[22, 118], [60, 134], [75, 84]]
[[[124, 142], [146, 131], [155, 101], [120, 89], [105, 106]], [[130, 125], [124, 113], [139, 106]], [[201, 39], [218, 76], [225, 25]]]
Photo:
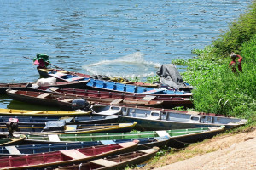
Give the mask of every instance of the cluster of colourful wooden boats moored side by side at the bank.
[[[189, 87], [108, 82], [60, 69], [38, 72], [57, 82], [0, 84], [0, 93], [62, 111], [0, 109], [1, 169], [124, 168], [147, 161], [165, 146], [181, 148], [247, 122], [172, 110], [193, 106]], [[77, 99], [86, 107], [73, 111]]]

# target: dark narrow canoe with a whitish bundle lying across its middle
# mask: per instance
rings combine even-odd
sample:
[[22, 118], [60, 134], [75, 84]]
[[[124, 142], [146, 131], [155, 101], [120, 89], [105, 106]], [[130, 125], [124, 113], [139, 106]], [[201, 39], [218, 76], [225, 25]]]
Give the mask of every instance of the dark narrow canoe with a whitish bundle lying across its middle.
[[[60, 88], [86, 88], [87, 81], [74, 81], [74, 82], [56, 82], [54, 86], [49, 87], [60, 87]], [[6, 90], [12, 88], [14, 90], [33, 90], [32, 84], [35, 82], [26, 83], [0, 83], [0, 94], [6, 94]]]

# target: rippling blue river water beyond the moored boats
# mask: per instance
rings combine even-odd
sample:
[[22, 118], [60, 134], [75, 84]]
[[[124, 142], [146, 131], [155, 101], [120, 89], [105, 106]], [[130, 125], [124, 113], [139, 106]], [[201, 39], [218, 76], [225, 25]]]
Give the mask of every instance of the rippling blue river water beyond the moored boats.
[[[36, 81], [35, 66], [23, 56], [37, 53], [67, 71], [154, 76], [160, 65], [211, 44], [249, 2], [0, 0], [0, 82]], [[34, 107], [0, 97], [0, 108]]]

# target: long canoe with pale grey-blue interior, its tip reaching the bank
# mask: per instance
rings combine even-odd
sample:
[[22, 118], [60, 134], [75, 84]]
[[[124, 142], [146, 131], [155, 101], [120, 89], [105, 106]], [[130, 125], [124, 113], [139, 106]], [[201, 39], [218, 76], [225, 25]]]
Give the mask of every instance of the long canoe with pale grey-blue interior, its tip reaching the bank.
[[93, 113], [97, 115], [119, 114], [119, 122], [137, 122], [137, 130], [169, 130], [196, 127], [239, 127], [247, 123], [245, 119], [182, 114], [168, 110], [154, 110], [130, 106], [92, 105]]

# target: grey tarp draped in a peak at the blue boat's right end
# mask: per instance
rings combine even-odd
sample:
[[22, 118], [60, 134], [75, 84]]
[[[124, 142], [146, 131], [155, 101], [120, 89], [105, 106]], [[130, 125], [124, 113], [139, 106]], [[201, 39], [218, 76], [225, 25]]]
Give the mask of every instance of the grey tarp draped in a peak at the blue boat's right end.
[[183, 82], [183, 78], [177, 71], [175, 65], [166, 64], [161, 65], [160, 69], [156, 71], [156, 74], [160, 76], [160, 82], [162, 84], [166, 84], [171, 88], [184, 88], [185, 82]]

